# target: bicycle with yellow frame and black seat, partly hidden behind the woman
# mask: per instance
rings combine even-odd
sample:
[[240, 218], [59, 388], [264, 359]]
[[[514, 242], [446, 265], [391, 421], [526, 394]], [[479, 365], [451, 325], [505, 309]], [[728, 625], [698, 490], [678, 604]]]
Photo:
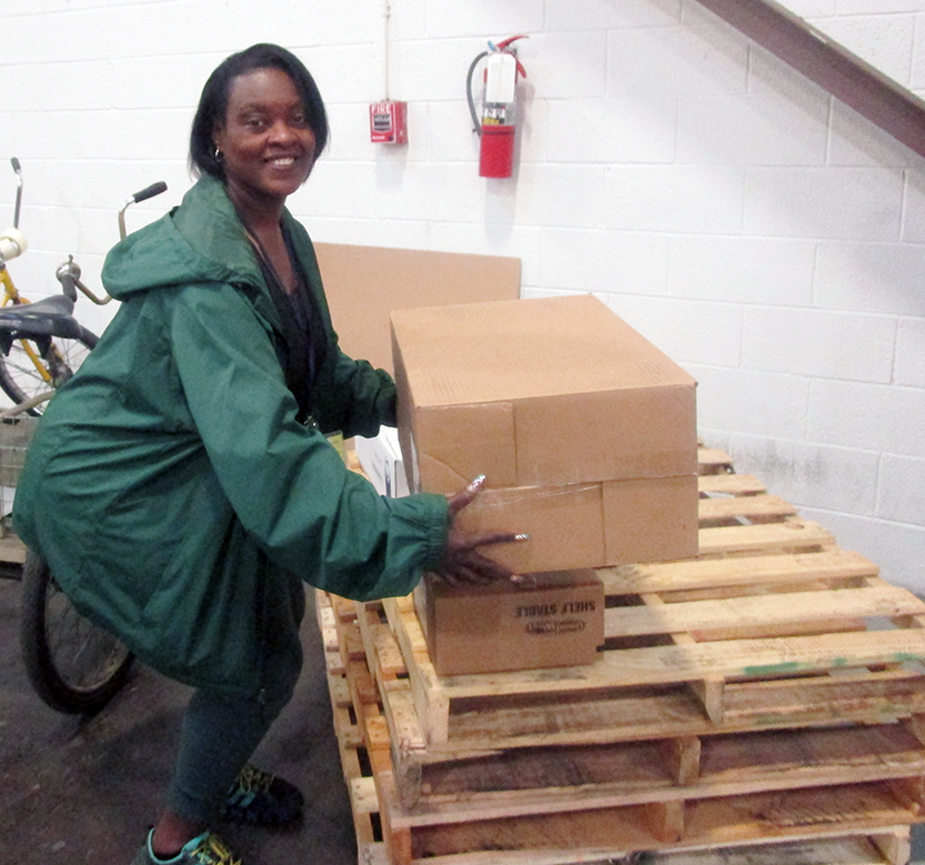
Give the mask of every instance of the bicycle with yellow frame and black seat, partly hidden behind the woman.
[[[0, 348], [3, 351], [0, 363], [0, 388], [17, 402], [10, 410], [0, 413], [4, 424], [17, 423], [22, 414], [39, 414], [39, 405], [51, 398], [54, 390], [76, 372], [83, 354], [97, 344], [97, 336], [83, 328], [71, 314], [78, 290], [94, 303], [107, 303], [80, 281], [80, 268], [73, 257], [62, 264], [56, 275], [62, 286], [62, 294], [34, 303], [28, 303], [19, 295], [6, 261], [26, 249], [26, 241], [19, 232], [19, 205], [21, 172], [13, 160], [13, 169], [20, 179], [13, 229], [0, 235], [0, 274], [4, 289], [4, 303], [0, 309]], [[167, 189], [163, 182], [154, 183], [131, 195], [119, 211], [119, 234], [125, 237], [124, 213], [132, 203], [144, 201]], [[16, 250], [10, 249], [11, 245]], [[81, 345], [86, 351], [77, 359], [69, 353], [69, 343]], [[44, 385], [46, 392], [27, 393], [19, 380], [14, 390], [8, 389], [4, 371], [10, 370], [10, 354], [13, 345], [22, 353], [23, 368], [32, 391]], [[31, 366], [29, 365], [31, 364]], [[41, 382], [41, 384], [38, 384]], [[18, 399], [22, 396], [23, 399]], [[37, 418], [26, 418], [34, 424]], [[28, 444], [27, 444], [28, 446]], [[31, 550], [27, 550], [22, 569], [20, 647], [30, 684], [41, 700], [59, 712], [89, 714], [102, 708], [128, 680], [133, 655], [111, 634], [84, 618], [61, 591], [49, 565]]]

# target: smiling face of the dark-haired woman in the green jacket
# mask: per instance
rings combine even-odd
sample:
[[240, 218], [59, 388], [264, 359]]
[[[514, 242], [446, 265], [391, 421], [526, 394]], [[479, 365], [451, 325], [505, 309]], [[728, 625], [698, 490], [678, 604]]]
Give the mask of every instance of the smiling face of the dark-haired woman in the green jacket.
[[248, 212], [281, 209], [314, 165], [315, 139], [292, 79], [255, 69], [231, 82], [223, 123], [213, 133], [232, 201]]

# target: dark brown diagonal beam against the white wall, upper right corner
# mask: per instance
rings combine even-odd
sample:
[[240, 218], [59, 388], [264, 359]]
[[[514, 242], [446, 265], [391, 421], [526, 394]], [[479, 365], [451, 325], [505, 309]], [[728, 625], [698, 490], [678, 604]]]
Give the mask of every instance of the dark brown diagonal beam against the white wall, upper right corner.
[[925, 157], [925, 102], [774, 0], [698, 0]]

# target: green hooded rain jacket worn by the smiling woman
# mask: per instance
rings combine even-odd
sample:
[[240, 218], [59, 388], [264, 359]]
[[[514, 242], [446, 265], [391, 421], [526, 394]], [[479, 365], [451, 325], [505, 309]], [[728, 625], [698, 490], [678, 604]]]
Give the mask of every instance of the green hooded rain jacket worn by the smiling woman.
[[[284, 220], [329, 330], [312, 415], [374, 435], [394, 383], [340, 351], [311, 241]], [[103, 281], [121, 306], [39, 424], [13, 526], [145, 663], [257, 694], [301, 665], [301, 581], [409, 593], [442, 553], [446, 501], [379, 496], [296, 422], [278, 313], [219, 181], [118, 244]]]

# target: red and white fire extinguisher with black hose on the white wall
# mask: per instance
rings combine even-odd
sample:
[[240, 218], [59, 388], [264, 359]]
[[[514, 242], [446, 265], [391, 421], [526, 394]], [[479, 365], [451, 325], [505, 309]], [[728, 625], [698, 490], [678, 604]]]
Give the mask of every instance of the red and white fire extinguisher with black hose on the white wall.
[[[511, 48], [511, 44], [524, 38], [512, 36], [496, 46], [489, 42], [489, 50], [479, 54], [469, 67], [465, 89], [473, 132], [481, 137], [479, 175], [483, 178], [510, 178], [513, 171], [516, 83], [519, 78], [526, 78], [526, 70], [517, 60], [516, 49]], [[472, 78], [483, 58], [487, 60], [482, 74], [480, 118], [472, 97]]]

